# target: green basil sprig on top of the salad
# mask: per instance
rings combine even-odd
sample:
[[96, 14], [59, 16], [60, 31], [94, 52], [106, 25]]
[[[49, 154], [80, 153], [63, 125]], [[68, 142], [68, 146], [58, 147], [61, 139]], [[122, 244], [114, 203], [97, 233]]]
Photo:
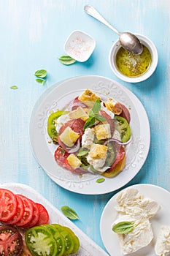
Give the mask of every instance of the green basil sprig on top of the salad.
[[99, 115], [98, 112], [101, 110], [101, 102], [99, 99], [96, 99], [96, 102], [93, 105], [93, 108], [90, 109], [89, 111], [89, 118], [88, 120], [85, 122], [85, 125], [83, 127], [83, 129], [87, 129], [89, 127], [93, 127], [93, 125], [95, 124], [95, 121], [106, 121], [106, 118], [104, 118], [103, 116]]

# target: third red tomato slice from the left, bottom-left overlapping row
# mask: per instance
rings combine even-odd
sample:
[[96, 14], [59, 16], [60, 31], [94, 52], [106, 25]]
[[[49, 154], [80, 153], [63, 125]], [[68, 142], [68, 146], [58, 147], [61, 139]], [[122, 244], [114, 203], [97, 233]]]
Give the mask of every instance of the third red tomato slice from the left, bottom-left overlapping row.
[[21, 200], [23, 200], [24, 211], [23, 211], [23, 216], [15, 225], [22, 227], [31, 221], [31, 219], [33, 217], [33, 209], [34, 208], [33, 208], [32, 201], [28, 197], [25, 197], [23, 195], [17, 195], [17, 196], [20, 197]]

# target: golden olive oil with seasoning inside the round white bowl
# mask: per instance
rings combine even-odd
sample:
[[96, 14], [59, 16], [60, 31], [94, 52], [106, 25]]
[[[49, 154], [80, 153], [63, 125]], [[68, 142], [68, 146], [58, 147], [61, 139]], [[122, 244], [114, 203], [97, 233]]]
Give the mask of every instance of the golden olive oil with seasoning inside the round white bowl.
[[143, 45], [141, 54], [129, 53], [128, 50], [120, 47], [115, 58], [117, 69], [128, 78], [135, 78], [143, 75], [150, 67], [152, 57], [150, 50]]

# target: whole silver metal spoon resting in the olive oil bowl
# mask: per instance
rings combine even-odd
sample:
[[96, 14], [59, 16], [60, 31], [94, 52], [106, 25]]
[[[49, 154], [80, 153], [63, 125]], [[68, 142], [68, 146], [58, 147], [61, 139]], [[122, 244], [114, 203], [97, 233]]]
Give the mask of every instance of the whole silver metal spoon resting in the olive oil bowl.
[[134, 54], [140, 54], [143, 51], [143, 46], [139, 39], [134, 35], [129, 32], [119, 32], [117, 29], [113, 28], [107, 20], [105, 20], [100, 13], [98, 13], [94, 7], [90, 5], [85, 5], [84, 10], [88, 15], [92, 16], [93, 18], [96, 18], [96, 20], [99, 20], [101, 23], [104, 23], [104, 25], [108, 26], [109, 29], [112, 29], [115, 31], [116, 34], [119, 35], [119, 40], [120, 40], [120, 45], [122, 45], [125, 50], [128, 50], [131, 53]]

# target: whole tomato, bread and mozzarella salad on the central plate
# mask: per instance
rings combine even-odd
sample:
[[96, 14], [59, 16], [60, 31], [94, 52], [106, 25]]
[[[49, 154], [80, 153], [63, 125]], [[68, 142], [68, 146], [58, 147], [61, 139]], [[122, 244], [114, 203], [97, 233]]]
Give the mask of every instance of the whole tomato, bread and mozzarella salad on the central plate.
[[47, 132], [58, 144], [55, 160], [72, 173], [114, 177], [125, 167], [125, 145], [130, 142], [131, 117], [120, 102], [104, 102], [86, 89], [66, 109], [51, 113]]

